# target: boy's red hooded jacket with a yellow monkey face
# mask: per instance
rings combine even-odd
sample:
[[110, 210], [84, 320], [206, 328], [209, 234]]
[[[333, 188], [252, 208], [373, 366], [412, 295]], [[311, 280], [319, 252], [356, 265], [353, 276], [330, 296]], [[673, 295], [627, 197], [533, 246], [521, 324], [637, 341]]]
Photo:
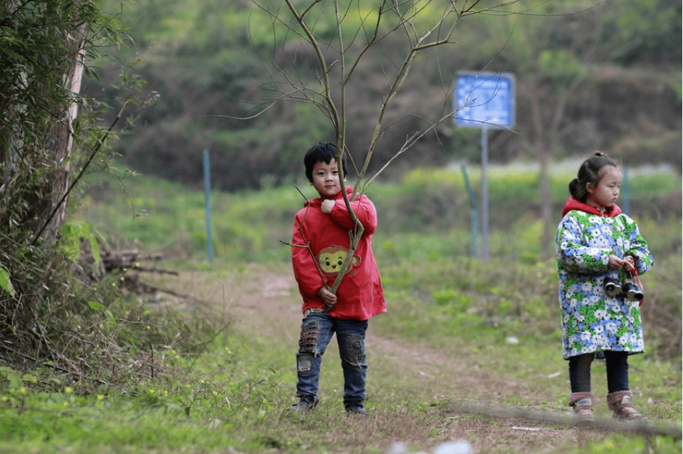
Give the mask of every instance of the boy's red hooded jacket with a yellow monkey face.
[[[353, 189], [347, 186], [346, 191], [351, 198]], [[306, 201], [304, 208], [294, 218], [291, 263], [294, 277], [299, 283], [301, 298], [304, 299], [302, 311], [325, 307], [318, 291], [323, 286], [323, 278], [331, 286], [339, 275], [339, 266], [349, 251], [349, 230], [355, 228], [342, 191], [334, 196], [331, 213], [321, 211], [322, 201], [320, 197]], [[382, 281], [371, 247], [371, 237], [377, 229], [377, 211], [372, 201], [364, 195], [352, 201], [351, 206], [363, 224], [364, 232], [358, 241], [351, 266], [336, 291], [337, 302], [329, 315], [342, 319], [367, 320], [387, 312]], [[308, 248], [301, 247], [306, 243], [315, 258]], [[319, 263], [321, 272], [314, 260]]]

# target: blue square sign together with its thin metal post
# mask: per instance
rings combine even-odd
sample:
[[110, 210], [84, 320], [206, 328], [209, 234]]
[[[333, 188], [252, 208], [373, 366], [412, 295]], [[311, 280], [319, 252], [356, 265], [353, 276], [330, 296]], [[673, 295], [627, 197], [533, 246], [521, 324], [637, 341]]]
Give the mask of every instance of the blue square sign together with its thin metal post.
[[489, 129], [514, 126], [514, 75], [459, 71], [453, 91], [457, 126], [482, 130], [482, 258], [489, 258]]

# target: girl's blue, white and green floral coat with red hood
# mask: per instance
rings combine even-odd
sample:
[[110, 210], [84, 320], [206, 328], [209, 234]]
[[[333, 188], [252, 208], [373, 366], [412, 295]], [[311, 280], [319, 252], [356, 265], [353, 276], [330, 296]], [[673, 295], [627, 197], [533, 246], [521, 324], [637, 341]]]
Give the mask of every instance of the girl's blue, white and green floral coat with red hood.
[[563, 216], [555, 246], [564, 359], [602, 350], [644, 352], [639, 303], [607, 296], [603, 289], [605, 277], [624, 278], [623, 268], [609, 269], [610, 255], [636, 258], [639, 275], [652, 268], [638, 226], [616, 205], [603, 214], [574, 198]]

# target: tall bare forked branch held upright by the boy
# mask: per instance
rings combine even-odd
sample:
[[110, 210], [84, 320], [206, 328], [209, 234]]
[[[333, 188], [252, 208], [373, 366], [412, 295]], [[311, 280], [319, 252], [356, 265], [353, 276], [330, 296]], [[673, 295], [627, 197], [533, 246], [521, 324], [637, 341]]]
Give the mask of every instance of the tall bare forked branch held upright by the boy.
[[[330, 289], [334, 293], [336, 288], [338, 288], [339, 283], [341, 283], [342, 278], [344, 278], [345, 271], [347, 271], [348, 266], [352, 262], [354, 251], [357, 247], [357, 242], [364, 233], [364, 227], [362, 226], [362, 223], [360, 223], [356, 213], [353, 211], [351, 205], [352, 201], [357, 198], [357, 196], [359, 196], [359, 194], [361, 194], [365, 188], [367, 188], [367, 186], [374, 181], [374, 178], [377, 178], [377, 176], [379, 176], [379, 174], [382, 173], [382, 171], [384, 171], [384, 169], [387, 168], [387, 166], [389, 166], [389, 164], [392, 163], [395, 158], [411, 148], [417, 141], [419, 141], [420, 138], [424, 137], [425, 134], [429, 133], [430, 131], [434, 131], [437, 125], [447, 120], [447, 118], [451, 118], [453, 114], [452, 112], [449, 114], [442, 114], [439, 118], [437, 118], [436, 121], [430, 121], [428, 128], [409, 133], [403, 146], [401, 146], [401, 148], [394, 153], [394, 156], [390, 158], [389, 161], [384, 163], [382, 168], [374, 173], [372, 178], [368, 178], [366, 180], [366, 173], [369, 169], [370, 163], [372, 162], [375, 148], [377, 147], [379, 139], [382, 138], [382, 133], [384, 131], [384, 121], [387, 116], [387, 109], [392, 104], [392, 101], [394, 101], [399, 91], [402, 89], [402, 86], [407, 79], [409, 71], [412, 68], [412, 64], [414, 63], [416, 57], [422, 51], [427, 49], [437, 48], [438, 46], [443, 46], [445, 44], [454, 42], [453, 38], [457, 26], [464, 17], [470, 16], [472, 14], [481, 14], [484, 11], [489, 11], [491, 14], [513, 14], [513, 11], [507, 11], [506, 8], [516, 4], [520, 0], [502, 1], [496, 6], [484, 9], [477, 9], [479, 7], [480, 0], [472, 1], [469, 4], [467, 1], [464, 2], [464, 4], [460, 4], [458, 1], [451, 0], [444, 7], [444, 11], [437, 22], [432, 24], [427, 30], [424, 31], [419, 30], [418, 19], [420, 19], [420, 15], [425, 11], [427, 6], [429, 6], [431, 3], [430, 1], [402, 2], [399, 0], [383, 0], [379, 6], [377, 6], [377, 9], [374, 13], [377, 14], [377, 21], [374, 21], [372, 24], [372, 29], [369, 30], [365, 28], [365, 24], [371, 17], [371, 14], [363, 14], [361, 4], [358, 3], [357, 12], [358, 18], [360, 20], [360, 26], [356, 32], [351, 35], [349, 44], [345, 44], [346, 37], [344, 36], [342, 24], [344, 20], [349, 18], [349, 15], [352, 13], [352, 3], [342, 7], [339, 4], [339, 0], [330, 1], [328, 3], [321, 2], [320, 0], [312, 0], [308, 4], [304, 5], [302, 12], [299, 12], [296, 9], [296, 6], [294, 6], [293, 0], [284, 1], [289, 8], [291, 16], [294, 18], [294, 22], [298, 24], [299, 29], [294, 30], [292, 28], [292, 24], [285, 23], [284, 19], [281, 19], [279, 14], [267, 11], [262, 7], [261, 9], [264, 9], [264, 11], [271, 15], [273, 18], [273, 24], [284, 24], [288, 30], [293, 31], [307, 44], [312, 46], [312, 49], [314, 49], [316, 54], [317, 64], [320, 71], [320, 76], [318, 79], [320, 88], [318, 90], [313, 90], [309, 86], [306, 86], [306, 84], [303, 82], [301, 84], [295, 83], [293, 80], [291, 80], [291, 77], [289, 74], [287, 74], [287, 71], [284, 71], [284, 69], [278, 67], [277, 69], [281, 72], [281, 74], [283, 74], [286, 84], [288, 84], [291, 89], [283, 90], [283, 87], [279, 86], [277, 83], [274, 84], [273, 89], [281, 93], [279, 99], [286, 98], [292, 101], [309, 102], [314, 104], [314, 106], [320, 109], [330, 119], [335, 131], [335, 142], [337, 147], [336, 162], [339, 166], [339, 178], [342, 188], [344, 187], [344, 169], [342, 168], [342, 161], [345, 156], [344, 153], [347, 153], [346, 156], [350, 156], [346, 148], [347, 86], [352, 84], [353, 76], [356, 74], [359, 64], [361, 64], [364, 59], [367, 59], [369, 56], [369, 51], [374, 46], [377, 46], [377, 44], [379, 44], [379, 42], [389, 34], [402, 30], [407, 37], [407, 42], [409, 43], [403, 60], [400, 62], [400, 64], [394, 65], [396, 71], [392, 71], [393, 74], [391, 77], [389, 77], [390, 81], [387, 85], [388, 88], [385, 91], [382, 104], [379, 106], [377, 119], [374, 124], [374, 131], [367, 148], [367, 154], [365, 156], [364, 163], [362, 163], [362, 166], [359, 169], [356, 166], [356, 163], [352, 162], [354, 171], [356, 171], [357, 174], [357, 182], [354, 186], [351, 198], [349, 199], [349, 195], [346, 191], [342, 191], [344, 204], [347, 207], [349, 216], [351, 216], [356, 228], [354, 228], [352, 231], [349, 231], [349, 253], [347, 253], [347, 258], [345, 259], [344, 263], [342, 263], [342, 271], [340, 271]], [[316, 18], [313, 18], [312, 21], [309, 21], [315, 11], [314, 6], [324, 6], [327, 4], [330, 4], [334, 8], [334, 20], [336, 20], [336, 36], [334, 36], [334, 41], [336, 41], [335, 44], [332, 44], [332, 39], [321, 39], [320, 36], [316, 36], [314, 33]], [[387, 13], [391, 14], [387, 16]], [[388, 31], [382, 31], [382, 24], [388, 22], [390, 19], [395, 20], [395, 22], [393, 24], [389, 24]], [[354, 43], [356, 43], [362, 31], [365, 31], [366, 42], [362, 46], [359, 46], [360, 49], [357, 49], [357, 53], [353, 56], [353, 58], [349, 58], [351, 57]], [[336, 52], [337, 59], [334, 61], [334, 63], [327, 64], [323, 52], [323, 45], [326, 46], [326, 49], [333, 49]], [[334, 87], [334, 90], [336, 91], [336, 97], [333, 97], [333, 87], [331, 81], [332, 70], [334, 69], [334, 66], [338, 66], [338, 68], [335, 69], [334, 76], [338, 76], [339, 78], [339, 86]], [[338, 104], [336, 104], [336, 102], [338, 102]], [[359, 191], [359, 188], [362, 188], [362, 191]], [[311, 254], [312, 253], [313, 251], [311, 251]], [[317, 263], [316, 266], [318, 266]], [[323, 281], [325, 280], [323, 279]]]

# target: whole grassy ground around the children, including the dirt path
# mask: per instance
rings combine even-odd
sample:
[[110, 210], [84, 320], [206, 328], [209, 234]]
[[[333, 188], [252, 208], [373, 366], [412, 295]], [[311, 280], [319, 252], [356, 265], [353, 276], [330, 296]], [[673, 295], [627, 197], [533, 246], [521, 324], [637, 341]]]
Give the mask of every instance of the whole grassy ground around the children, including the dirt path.
[[[111, 380], [0, 367], [0, 452], [387, 453], [404, 443], [415, 453], [467, 440], [473, 453], [680, 453], [679, 215], [634, 213], [657, 263], [644, 276], [647, 353], [629, 360], [630, 378], [654, 434], [624, 425], [579, 430], [563, 419], [569, 383], [557, 278], [552, 259], [539, 258], [539, 223], [519, 207], [512, 228], [494, 225], [490, 260], [469, 257], [469, 201], [458, 175], [449, 181], [421, 171], [403, 185], [372, 188], [390, 224], [374, 237], [389, 311], [369, 330], [367, 418], [343, 411], [334, 342], [315, 413], [286, 412], [294, 402], [301, 316], [289, 248], [279, 240], [289, 240], [301, 206], [296, 190], [212, 194], [209, 262], [203, 193], [143, 177], [126, 181], [126, 196], [116, 182], [100, 181], [78, 218], [111, 249], [163, 251], [156, 266], [179, 276], [141, 279], [173, 293], [129, 294], [107, 309], [111, 317], [99, 329], [127, 343], [104, 348], [128, 353], [111, 365]], [[633, 193], [634, 207], [680, 191], [678, 177], [652, 175], [634, 171], [633, 186], [642, 178], [638, 186], [650, 188]], [[517, 198], [535, 177], [501, 170], [497, 178], [489, 184]], [[557, 203], [566, 198], [565, 179], [557, 178]], [[452, 192], [439, 189], [444, 185]], [[440, 190], [447, 200], [439, 202]], [[492, 191], [492, 205], [504, 203], [505, 193]], [[410, 201], [419, 200], [450, 206], [454, 222], [444, 226], [432, 213], [434, 222], [413, 228], [420, 220]], [[429, 203], [420, 206], [424, 218]], [[151, 353], [142, 354], [141, 343]], [[597, 417], [607, 423], [599, 361], [593, 387]]]

